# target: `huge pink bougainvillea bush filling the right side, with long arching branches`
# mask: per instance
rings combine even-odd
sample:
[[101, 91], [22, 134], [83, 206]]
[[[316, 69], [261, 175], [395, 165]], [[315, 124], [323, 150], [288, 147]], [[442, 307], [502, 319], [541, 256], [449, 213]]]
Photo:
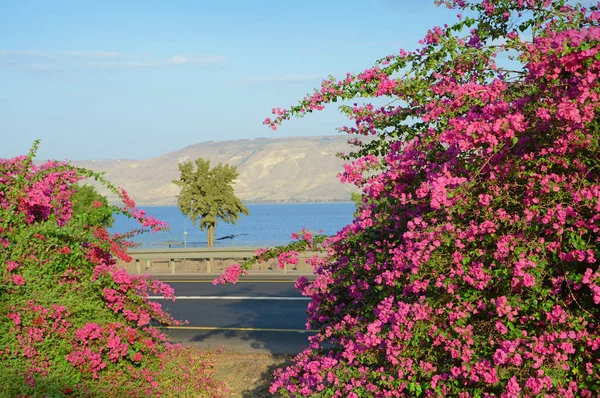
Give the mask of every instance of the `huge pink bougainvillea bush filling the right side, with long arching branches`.
[[318, 334], [277, 395], [599, 394], [600, 12], [439, 3], [463, 15], [422, 48], [265, 120], [357, 98], [342, 130], [372, 138], [341, 174], [357, 217], [298, 281]]

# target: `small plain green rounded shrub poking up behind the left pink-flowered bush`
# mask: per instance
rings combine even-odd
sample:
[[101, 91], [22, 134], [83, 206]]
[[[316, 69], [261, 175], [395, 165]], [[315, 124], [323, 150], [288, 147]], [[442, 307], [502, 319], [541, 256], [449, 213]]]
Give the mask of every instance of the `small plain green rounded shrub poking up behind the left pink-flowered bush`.
[[[113, 209], [108, 204], [108, 199], [96, 191], [93, 185], [73, 184], [73, 217], [85, 217], [89, 225], [98, 225], [105, 228], [112, 227], [115, 219]], [[91, 211], [92, 209], [101, 210]]]

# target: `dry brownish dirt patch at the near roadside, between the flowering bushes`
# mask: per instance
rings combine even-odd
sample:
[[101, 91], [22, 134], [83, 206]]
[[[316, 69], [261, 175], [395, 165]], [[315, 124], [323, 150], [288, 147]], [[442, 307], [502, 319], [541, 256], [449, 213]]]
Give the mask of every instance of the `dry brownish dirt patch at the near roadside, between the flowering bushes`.
[[215, 377], [227, 384], [231, 398], [272, 397], [273, 371], [290, 365], [291, 355], [213, 352]]

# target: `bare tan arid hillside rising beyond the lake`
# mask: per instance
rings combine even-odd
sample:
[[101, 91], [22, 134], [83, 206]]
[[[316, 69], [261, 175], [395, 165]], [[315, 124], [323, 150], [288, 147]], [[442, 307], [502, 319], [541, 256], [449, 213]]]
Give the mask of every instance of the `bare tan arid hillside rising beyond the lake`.
[[240, 175], [235, 192], [244, 201], [346, 201], [352, 187], [336, 177], [344, 164], [336, 153], [350, 150], [347, 139], [331, 136], [211, 141], [146, 160], [102, 159], [73, 164], [104, 171], [109, 181], [125, 188], [140, 205], [175, 204], [179, 188], [171, 181], [179, 177], [177, 164], [198, 157], [210, 159], [211, 165], [237, 166]]

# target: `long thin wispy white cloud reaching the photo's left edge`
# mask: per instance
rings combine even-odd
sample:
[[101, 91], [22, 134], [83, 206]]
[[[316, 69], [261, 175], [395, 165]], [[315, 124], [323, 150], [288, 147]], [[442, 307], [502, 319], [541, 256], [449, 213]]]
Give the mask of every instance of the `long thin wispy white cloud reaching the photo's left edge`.
[[136, 69], [191, 66], [199, 67], [224, 62], [214, 54], [174, 54], [156, 57], [96, 51], [13, 51], [0, 50], [0, 67], [31, 71], [61, 71], [71, 69]]

